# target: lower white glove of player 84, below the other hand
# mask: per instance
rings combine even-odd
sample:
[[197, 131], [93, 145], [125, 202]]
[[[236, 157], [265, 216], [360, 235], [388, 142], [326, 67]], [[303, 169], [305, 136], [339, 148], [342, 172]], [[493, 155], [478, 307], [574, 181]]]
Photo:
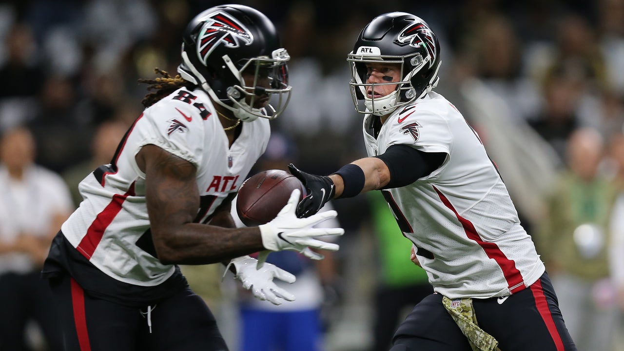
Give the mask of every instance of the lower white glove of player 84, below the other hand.
[[[249, 256], [236, 257], [230, 261], [228, 267], [234, 265], [235, 279], [243, 283], [243, 288], [250, 290], [257, 299], [269, 300], [274, 305], [281, 305], [281, 300], [294, 301], [295, 295], [278, 287], [274, 278], [292, 284], [295, 275], [286, 272], [273, 264], [265, 263], [258, 267], [258, 260]], [[227, 272], [227, 269], [226, 269]]]

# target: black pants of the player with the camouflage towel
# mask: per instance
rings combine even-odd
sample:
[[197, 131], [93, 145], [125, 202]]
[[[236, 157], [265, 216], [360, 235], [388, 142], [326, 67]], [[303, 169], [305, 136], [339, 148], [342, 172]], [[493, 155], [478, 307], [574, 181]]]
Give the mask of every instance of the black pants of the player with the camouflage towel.
[[[499, 342], [503, 351], [577, 350], [558, 307], [548, 275], [507, 299], [473, 299], [481, 329]], [[399, 326], [391, 351], [471, 351], [470, 345], [432, 294], [414, 307]]]

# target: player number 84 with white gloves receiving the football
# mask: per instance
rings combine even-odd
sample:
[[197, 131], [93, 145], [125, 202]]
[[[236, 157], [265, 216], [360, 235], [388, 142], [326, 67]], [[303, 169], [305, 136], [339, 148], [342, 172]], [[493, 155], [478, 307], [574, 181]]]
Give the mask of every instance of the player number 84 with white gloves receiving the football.
[[[177, 264], [229, 261], [243, 286], [280, 304], [273, 279], [295, 277], [247, 254], [338, 250], [312, 229], [336, 212], [295, 215], [299, 192], [268, 224], [236, 229], [230, 206], [288, 102], [286, 62], [271, 21], [241, 5], [198, 14], [183, 36], [180, 76], [155, 89], [110, 164], [79, 184], [84, 200], [52, 243], [43, 275], [60, 307], [66, 350], [227, 350], [215, 318]], [[273, 97], [275, 107], [269, 104]]]

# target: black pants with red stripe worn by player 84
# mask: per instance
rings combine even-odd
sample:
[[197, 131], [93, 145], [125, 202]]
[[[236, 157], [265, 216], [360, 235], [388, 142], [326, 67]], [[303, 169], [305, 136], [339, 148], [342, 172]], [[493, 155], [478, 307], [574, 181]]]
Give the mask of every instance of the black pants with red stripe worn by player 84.
[[65, 351], [228, 350], [212, 312], [190, 289], [139, 309], [91, 297], [69, 275], [50, 283]]

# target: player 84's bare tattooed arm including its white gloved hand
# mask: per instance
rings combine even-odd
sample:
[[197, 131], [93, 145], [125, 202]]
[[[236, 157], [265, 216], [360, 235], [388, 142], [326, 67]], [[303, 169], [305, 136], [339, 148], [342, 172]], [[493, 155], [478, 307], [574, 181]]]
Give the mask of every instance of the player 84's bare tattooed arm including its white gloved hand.
[[145, 173], [152, 242], [163, 264], [212, 264], [265, 249], [297, 250], [319, 259], [318, 254], [311, 254], [310, 247], [338, 250], [338, 245], [314, 237], [341, 235], [343, 229], [311, 228], [335, 217], [336, 212], [297, 219], [297, 198], [291, 198], [280, 215], [262, 228], [193, 223], [200, 206], [195, 166], [154, 145], [142, 147], [136, 159]]

